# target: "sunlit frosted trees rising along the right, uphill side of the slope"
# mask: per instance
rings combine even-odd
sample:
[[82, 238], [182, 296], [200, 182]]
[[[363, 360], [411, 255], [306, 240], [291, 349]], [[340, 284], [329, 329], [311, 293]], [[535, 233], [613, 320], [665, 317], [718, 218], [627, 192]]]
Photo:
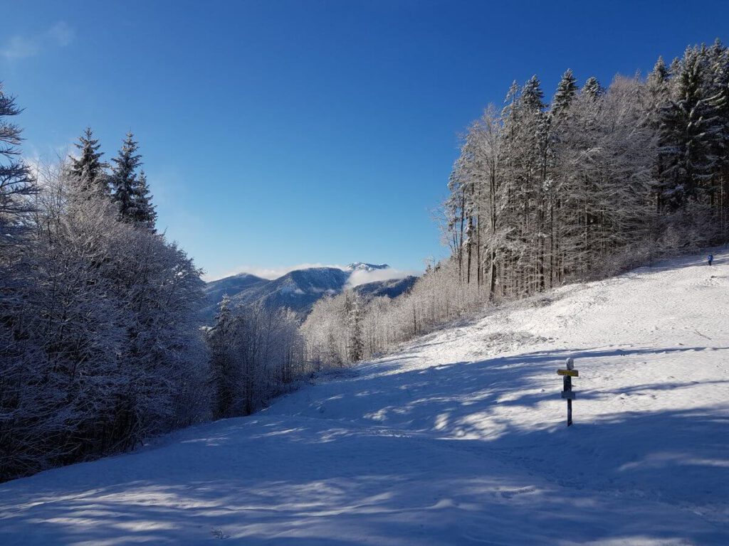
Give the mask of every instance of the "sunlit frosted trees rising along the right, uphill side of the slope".
[[488, 302], [727, 242], [729, 52], [689, 47], [607, 89], [568, 70], [549, 104], [537, 76], [514, 83], [468, 127], [448, 189], [450, 258], [395, 300], [317, 303], [302, 329], [313, 363], [376, 356]]

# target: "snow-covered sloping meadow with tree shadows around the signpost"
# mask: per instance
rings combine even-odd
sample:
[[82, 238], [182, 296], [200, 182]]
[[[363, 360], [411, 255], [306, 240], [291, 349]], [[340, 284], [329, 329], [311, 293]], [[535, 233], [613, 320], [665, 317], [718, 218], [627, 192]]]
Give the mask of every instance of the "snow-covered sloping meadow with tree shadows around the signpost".
[[0, 544], [729, 545], [728, 329], [724, 255], [571, 285], [0, 484]]

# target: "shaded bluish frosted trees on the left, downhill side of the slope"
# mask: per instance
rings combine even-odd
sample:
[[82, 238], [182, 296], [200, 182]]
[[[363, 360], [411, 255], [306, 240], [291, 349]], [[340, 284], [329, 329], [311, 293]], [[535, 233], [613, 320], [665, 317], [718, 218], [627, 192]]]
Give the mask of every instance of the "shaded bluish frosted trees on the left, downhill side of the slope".
[[58, 165], [21, 158], [0, 87], [0, 481], [249, 414], [302, 373], [284, 312], [223, 306], [201, 328], [201, 270], [155, 229], [129, 134], [87, 129]]

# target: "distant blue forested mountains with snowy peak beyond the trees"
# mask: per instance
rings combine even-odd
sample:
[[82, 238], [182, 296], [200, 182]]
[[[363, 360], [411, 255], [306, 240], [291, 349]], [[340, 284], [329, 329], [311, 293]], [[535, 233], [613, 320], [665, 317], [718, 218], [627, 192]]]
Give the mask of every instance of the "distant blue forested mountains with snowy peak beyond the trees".
[[[286, 307], [305, 317], [313, 304], [324, 295], [335, 295], [344, 290], [352, 274], [389, 269], [387, 264], [355, 262], [346, 269], [337, 267], [313, 267], [297, 269], [278, 279], [268, 280], [252, 274], [241, 273], [233, 277], [206, 283], [206, 304], [203, 317], [211, 323], [217, 306], [225, 294], [235, 304], [262, 303], [270, 307]], [[396, 298], [413, 286], [417, 277], [378, 280], [359, 285], [354, 290], [365, 298], [387, 296]]]

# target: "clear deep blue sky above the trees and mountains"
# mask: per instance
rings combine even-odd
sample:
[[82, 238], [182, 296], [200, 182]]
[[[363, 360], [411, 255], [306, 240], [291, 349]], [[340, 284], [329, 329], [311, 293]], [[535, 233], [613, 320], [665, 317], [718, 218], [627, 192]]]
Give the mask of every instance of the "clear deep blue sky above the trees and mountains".
[[[5, 2], [3, 2], [5, 4]], [[729, 1], [7, 2], [26, 154], [139, 138], [159, 226], [211, 277], [442, 256], [458, 134], [517, 79], [551, 97], [729, 41]], [[693, 7], [696, 6], [696, 7]], [[700, 7], [699, 7], [700, 6]]]

